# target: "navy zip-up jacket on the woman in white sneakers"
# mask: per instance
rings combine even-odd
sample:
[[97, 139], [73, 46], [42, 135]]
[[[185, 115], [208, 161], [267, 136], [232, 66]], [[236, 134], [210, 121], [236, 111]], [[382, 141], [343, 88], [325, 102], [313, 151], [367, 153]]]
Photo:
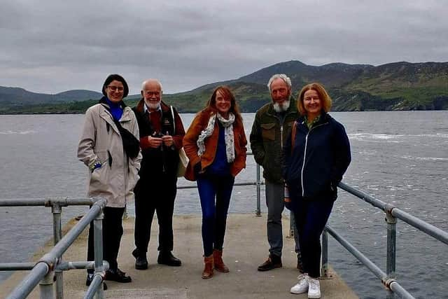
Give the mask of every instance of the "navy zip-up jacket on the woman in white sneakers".
[[308, 129], [297, 119], [295, 144], [291, 136], [283, 146], [282, 170], [293, 200], [336, 200], [337, 184], [351, 162], [344, 126], [327, 113]]

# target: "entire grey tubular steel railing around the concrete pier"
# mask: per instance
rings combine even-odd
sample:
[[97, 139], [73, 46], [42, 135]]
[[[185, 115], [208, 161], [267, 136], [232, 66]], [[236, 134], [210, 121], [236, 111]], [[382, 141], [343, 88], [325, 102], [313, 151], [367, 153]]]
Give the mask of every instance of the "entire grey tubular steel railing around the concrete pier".
[[[252, 155], [252, 153], [247, 153]], [[255, 215], [261, 216], [261, 186], [264, 182], [261, 180], [260, 165], [256, 165], [256, 181], [255, 182], [243, 182], [235, 183], [235, 186], [255, 186], [256, 187], [256, 209]], [[392, 298], [393, 293], [396, 293], [401, 298], [414, 298], [408, 293], [405, 288], [395, 280], [395, 242], [396, 242], [396, 223], [397, 218], [405, 221], [414, 228], [421, 230], [422, 232], [434, 237], [435, 239], [448, 244], [448, 232], [436, 228], [434, 225], [430, 225], [425, 221], [422, 221], [411, 214], [406, 213], [394, 207], [391, 204], [382, 202], [371, 195], [367, 195], [363, 191], [357, 190], [346, 183], [339, 183], [339, 188], [342, 188], [351, 195], [364, 200], [372, 204], [385, 212], [387, 223], [387, 258], [386, 258], [386, 272], [383, 272], [377, 265], [372, 263], [369, 258], [363, 255], [355, 246], [350, 244], [344, 237], [339, 235], [329, 225], [325, 226], [322, 234], [322, 267], [321, 276], [323, 278], [330, 277], [328, 272], [328, 234], [335, 238], [339, 244], [342, 244], [349, 253], [358, 258], [360, 263], [363, 263], [375, 276], [381, 279], [381, 283], [386, 287], [388, 291], [387, 297]], [[178, 186], [178, 189], [197, 188], [195, 185]], [[61, 239], [61, 210], [62, 207], [68, 205], [92, 205], [89, 213], [85, 214], [77, 225], [75, 225], [64, 238]], [[62, 271], [71, 269], [95, 269], [94, 279], [92, 284], [87, 289], [85, 298], [104, 298], [102, 280], [104, 278], [104, 271], [107, 270], [109, 265], [106, 261], [102, 260], [102, 209], [104, 207], [105, 200], [95, 200], [86, 198], [62, 198], [55, 200], [43, 200], [43, 199], [28, 199], [28, 200], [0, 200], [0, 207], [12, 207], [12, 206], [38, 206], [45, 205], [45, 207], [52, 207], [53, 214], [53, 235], [55, 239], [55, 247], [50, 253], [45, 254], [39, 260], [37, 264], [34, 263], [3, 263], [0, 264], [1, 270], [31, 270], [25, 279], [15, 288], [13, 293], [7, 297], [7, 299], [22, 299], [25, 298], [32, 289], [39, 284], [41, 286], [41, 298], [53, 298], [52, 296], [52, 272], [55, 272], [56, 277], [56, 298], [63, 298], [62, 290]], [[80, 232], [89, 225], [90, 221], [94, 221], [94, 239], [95, 239], [95, 260], [94, 262], [62, 262], [62, 254], [68, 246], [80, 235]], [[290, 236], [292, 237], [294, 232], [294, 218], [293, 214], [290, 214]], [[98, 251], [97, 251], [98, 249]], [[51, 278], [51, 279], [50, 279]]]

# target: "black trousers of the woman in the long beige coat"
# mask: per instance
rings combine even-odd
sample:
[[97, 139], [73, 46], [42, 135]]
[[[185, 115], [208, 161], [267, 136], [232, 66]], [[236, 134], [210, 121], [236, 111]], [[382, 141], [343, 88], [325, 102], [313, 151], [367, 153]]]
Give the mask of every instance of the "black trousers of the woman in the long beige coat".
[[[123, 236], [123, 213], [125, 208], [104, 207], [103, 213], [103, 259], [109, 263], [109, 269], [117, 270], [118, 250]], [[87, 240], [87, 260], [94, 260], [94, 232], [93, 222], [90, 223], [89, 237]], [[93, 273], [93, 269], [87, 270]]]

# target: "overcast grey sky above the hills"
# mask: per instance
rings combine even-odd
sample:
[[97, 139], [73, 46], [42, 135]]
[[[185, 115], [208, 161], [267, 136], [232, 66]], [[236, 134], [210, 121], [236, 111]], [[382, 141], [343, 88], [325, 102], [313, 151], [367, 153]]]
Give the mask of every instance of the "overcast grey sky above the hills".
[[288, 60], [448, 61], [448, 3], [432, 0], [0, 0], [0, 85], [181, 92]]

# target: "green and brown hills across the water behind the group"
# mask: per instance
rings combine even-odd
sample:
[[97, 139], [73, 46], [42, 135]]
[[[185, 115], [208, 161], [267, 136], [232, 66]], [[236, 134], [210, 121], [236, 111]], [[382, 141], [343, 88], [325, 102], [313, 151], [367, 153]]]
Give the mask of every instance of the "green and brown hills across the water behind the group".
[[[370, 64], [331, 63], [311, 66], [288, 61], [229, 81], [200, 86], [188, 92], [164, 94], [163, 100], [181, 112], [197, 112], [218, 85], [229, 85], [241, 111], [256, 111], [270, 101], [267, 82], [273, 74], [286, 74], [293, 96], [303, 85], [320, 82], [333, 100], [332, 111], [446, 110], [448, 62], [394, 62]], [[56, 95], [0, 86], [0, 113], [83, 113], [102, 97], [90, 90], [69, 90]], [[132, 106], [139, 95], [130, 95]]]

